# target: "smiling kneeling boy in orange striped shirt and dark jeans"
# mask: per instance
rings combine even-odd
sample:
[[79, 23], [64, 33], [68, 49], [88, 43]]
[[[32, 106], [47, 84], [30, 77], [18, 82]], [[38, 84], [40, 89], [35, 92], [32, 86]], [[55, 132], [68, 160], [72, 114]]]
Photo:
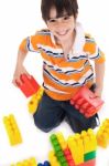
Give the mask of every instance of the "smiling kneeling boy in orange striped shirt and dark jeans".
[[[40, 51], [43, 58], [44, 94], [33, 115], [35, 125], [50, 132], [66, 117], [75, 133], [95, 128], [97, 114], [86, 118], [70, 105], [69, 100], [83, 85], [101, 96], [105, 55], [76, 22], [76, 0], [42, 0], [41, 10], [47, 29], [24, 39], [20, 44], [13, 84], [20, 82], [22, 73], [30, 76], [23, 66], [28, 51]], [[89, 60], [95, 62], [95, 82]]]

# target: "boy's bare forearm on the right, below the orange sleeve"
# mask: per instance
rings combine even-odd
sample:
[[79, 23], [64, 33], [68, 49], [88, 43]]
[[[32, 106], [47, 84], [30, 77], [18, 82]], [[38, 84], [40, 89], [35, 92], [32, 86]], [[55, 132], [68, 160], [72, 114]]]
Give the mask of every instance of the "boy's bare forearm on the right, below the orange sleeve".
[[102, 89], [103, 89], [103, 76], [105, 76], [105, 62], [96, 63], [95, 62], [95, 73], [96, 73], [96, 96], [101, 96]]

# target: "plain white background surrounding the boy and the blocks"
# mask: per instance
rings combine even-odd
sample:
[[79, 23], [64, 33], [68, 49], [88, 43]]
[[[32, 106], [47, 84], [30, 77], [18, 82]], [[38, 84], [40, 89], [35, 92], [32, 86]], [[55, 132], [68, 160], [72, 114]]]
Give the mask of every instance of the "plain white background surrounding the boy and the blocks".
[[[78, 0], [78, 21], [83, 23], [86, 32], [92, 34], [100, 49], [106, 53], [106, 76], [102, 93], [105, 105], [99, 113], [102, 122], [109, 117], [108, 0]], [[40, 0], [0, 0], [0, 166], [9, 166], [11, 163], [31, 156], [36, 157], [37, 163], [44, 162], [52, 148], [48, 141], [51, 133], [45, 134], [35, 127], [33, 118], [28, 112], [28, 100], [11, 83], [20, 42], [41, 28], [45, 28], [45, 24], [41, 19]], [[42, 59], [40, 54], [29, 53], [25, 66], [42, 83]], [[10, 146], [2, 123], [2, 117], [10, 113], [14, 114], [23, 138], [23, 144], [14, 147]], [[66, 123], [63, 123], [52, 133], [57, 131], [62, 131], [66, 138], [73, 133]], [[107, 149], [98, 148], [97, 166], [109, 166], [109, 147]]]

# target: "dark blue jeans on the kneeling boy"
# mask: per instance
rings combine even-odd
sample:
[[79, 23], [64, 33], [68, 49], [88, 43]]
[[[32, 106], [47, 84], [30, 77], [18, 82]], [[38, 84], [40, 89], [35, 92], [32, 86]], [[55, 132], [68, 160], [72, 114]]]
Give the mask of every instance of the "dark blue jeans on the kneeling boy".
[[[94, 91], [94, 89], [95, 84], [90, 90]], [[80, 133], [84, 129], [95, 128], [98, 115], [86, 118], [70, 105], [69, 101], [53, 100], [44, 92], [33, 117], [35, 125], [43, 132], [50, 132], [65, 118], [75, 133]]]

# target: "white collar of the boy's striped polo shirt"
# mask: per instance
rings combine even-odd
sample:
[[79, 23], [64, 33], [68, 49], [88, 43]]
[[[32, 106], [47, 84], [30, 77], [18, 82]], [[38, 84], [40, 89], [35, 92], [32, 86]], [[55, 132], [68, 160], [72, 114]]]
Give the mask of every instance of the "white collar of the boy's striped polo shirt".
[[[75, 41], [73, 44], [73, 49], [69, 51], [69, 54], [68, 54], [69, 59], [73, 59], [73, 56], [85, 54], [83, 50], [85, 45], [85, 32], [84, 32], [83, 25], [79, 22], [77, 22], [75, 30], [76, 30], [76, 37], [75, 37]], [[51, 33], [51, 40], [53, 44], [56, 45], [54, 35], [52, 33]]]

